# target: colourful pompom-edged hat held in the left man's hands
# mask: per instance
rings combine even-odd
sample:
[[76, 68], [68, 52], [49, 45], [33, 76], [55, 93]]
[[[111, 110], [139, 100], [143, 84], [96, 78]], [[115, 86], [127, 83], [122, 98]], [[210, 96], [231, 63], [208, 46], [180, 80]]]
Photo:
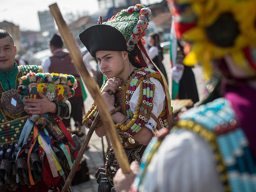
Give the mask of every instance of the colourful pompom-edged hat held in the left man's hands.
[[[75, 94], [77, 81], [74, 76], [58, 73], [34, 73], [30, 72], [20, 78], [18, 93], [22, 102], [24, 99], [39, 99], [39, 92], [42, 92], [51, 102], [62, 103]], [[48, 114], [28, 114], [30, 120], [40, 127], [44, 127], [51, 118]]]

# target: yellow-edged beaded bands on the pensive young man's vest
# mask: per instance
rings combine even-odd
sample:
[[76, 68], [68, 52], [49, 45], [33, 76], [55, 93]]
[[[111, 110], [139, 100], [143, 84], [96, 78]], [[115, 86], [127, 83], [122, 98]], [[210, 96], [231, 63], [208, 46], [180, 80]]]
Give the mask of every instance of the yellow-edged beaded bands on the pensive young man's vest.
[[[122, 89], [124, 90], [124, 115], [132, 119], [126, 126], [119, 124], [115, 125], [116, 129], [120, 130], [120, 134], [122, 134], [124, 137], [131, 137], [135, 135], [143, 128], [143, 126], [148, 121], [146, 115], [142, 115], [142, 112], [144, 112], [144, 110], [148, 110], [148, 113], [150, 113], [153, 107], [154, 84], [150, 81], [150, 77], [157, 79], [161, 78], [159, 72], [156, 72], [152, 69], [137, 69], [134, 71], [134, 74], [127, 80], [126, 84], [122, 87]], [[137, 104], [139, 108], [138, 110], [135, 110], [133, 114], [130, 108], [130, 98], [132, 97], [134, 91], [136, 90], [136, 88], [138, 88], [140, 84], [140, 96], [138, 98]], [[96, 106], [93, 104], [91, 109], [84, 116], [82, 124], [85, 124], [86, 126], [90, 127], [97, 112], [98, 111], [96, 110]], [[162, 114], [162, 116], [164, 116], [164, 114]], [[99, 124], [97, 126], [99, 126]]]

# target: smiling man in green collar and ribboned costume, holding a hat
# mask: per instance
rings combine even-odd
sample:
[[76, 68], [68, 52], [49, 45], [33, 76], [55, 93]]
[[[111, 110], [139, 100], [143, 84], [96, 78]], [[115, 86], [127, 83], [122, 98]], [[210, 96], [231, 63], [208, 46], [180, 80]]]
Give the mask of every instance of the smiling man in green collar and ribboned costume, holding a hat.
[[[56, 125], [53, 129], [46, 126], [38, 130], [38, 126], [28, 118], [28, 114], [29, 116], [50, 114], [56, 121], [61, 121], [61, 118], [70, 116], [71, 106], [68, 101], [50, 102], [42, 92], [38, 93], [41, 99], [24, 99], [23, 103], [17, 91], [20, 78], [30, 71], [42, 72], [42, 67], [17, 66], [16, 52], [12, 36], [0, 29], [0, 191], [58, 191], [58, 188], [61, 188], [60, 174], [63, 175], [64, 172], [59, 174], [57, 169], [60, 171], [59, 168], [66, 166], [67, 162], [64, 158], [59, 159], [59, 156], [50, 158], [49, 150], [52, 148], [52, 154], [64, 155], [58, 144], [63, 146], [65, 143], [66, 150], [68, 148], [71, 150], [70, 158], [73, 159], [77, 146], [71, 144], [74, 144], [74, 141], [68, 134], [59, 137], [57, 143], [54, 134], [58, 135], [61, 132], [55, 124], [57, 122], [52, 122]], [[31, 131], [29, 128], [32, 128]], [[63, 131], [62, 134], [64, 135]], [[48, 147], [45, 143], [39, 142], [39, 140], [44, 141], [41, 137], [50, 142], [49, 145], [46, 144]], [[55, 159], [61, 166], [56, 169], [50, 159]], [[56, 170], [54, 176], [52, 170]], [[62, 171], [67, 170], [62, 168]]]

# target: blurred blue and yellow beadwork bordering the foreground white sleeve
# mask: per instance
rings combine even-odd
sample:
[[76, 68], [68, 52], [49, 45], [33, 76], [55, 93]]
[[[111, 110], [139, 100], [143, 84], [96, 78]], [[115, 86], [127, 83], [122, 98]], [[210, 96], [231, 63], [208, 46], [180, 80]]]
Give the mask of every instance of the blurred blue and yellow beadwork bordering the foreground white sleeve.
[[[191, 130], [209, 142], [225, 191], [256, 191], [256, 163], [228, 100], [219, 98], [198, 108], [192, 108], [181, 114], [180, 118], [172, 131], [176, 128]], [[162, 139], [154, 137], [148, 144], [138, 175], [131, 186], [132, 192], [138, 192], [146, 168], [161, 142]]]

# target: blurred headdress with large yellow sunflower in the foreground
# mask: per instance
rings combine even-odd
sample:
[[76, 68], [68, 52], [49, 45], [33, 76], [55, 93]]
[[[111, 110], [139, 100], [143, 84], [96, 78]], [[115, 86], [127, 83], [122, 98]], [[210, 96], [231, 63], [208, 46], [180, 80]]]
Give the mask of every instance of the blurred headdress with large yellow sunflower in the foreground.
[[192, 44], [184, 63], [202, 62], [211, 74], [210, 60], [227, 55], [238, 68], [256, 74], [256, 1], [171, 0], [177, 37]]

